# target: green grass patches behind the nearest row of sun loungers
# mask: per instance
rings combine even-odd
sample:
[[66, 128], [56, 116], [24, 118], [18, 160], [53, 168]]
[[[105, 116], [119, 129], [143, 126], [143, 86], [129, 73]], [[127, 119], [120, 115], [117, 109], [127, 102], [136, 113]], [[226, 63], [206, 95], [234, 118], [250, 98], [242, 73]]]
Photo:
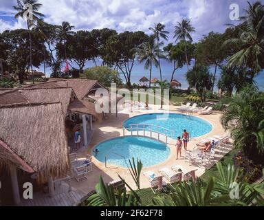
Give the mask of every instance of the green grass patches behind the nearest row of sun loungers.
[[[238, 151], [239, 151], [238, 149], [233, 149], [232, 151], [227, 153], [220, 160], [220, 162], [223, 164], [223, 166], [228, 166], [228, 164], [233, 164], [233, 157]], [[214, 176], [218, 175], [216, 164], [214, 164], [214, 166], [212, 166], [210, 169], [206, 170], [206, 172], [203, 173], [203, 175], [201, 175], [201, 179], [203, 181], [208, 181], [209, 177], [212, 175], [214, 175]], [[157, 191], [157, 193], [154, 194], [152, 192], [151, 188], [145, 188], [145, 189], [140, 190], [139, 195], [140, 195], [140, 198], [142, 199], [142, 206], [153, 206], [153, 198], [154, 197], [157, 197], [159, 195], [166, 197], [167, 193]]]

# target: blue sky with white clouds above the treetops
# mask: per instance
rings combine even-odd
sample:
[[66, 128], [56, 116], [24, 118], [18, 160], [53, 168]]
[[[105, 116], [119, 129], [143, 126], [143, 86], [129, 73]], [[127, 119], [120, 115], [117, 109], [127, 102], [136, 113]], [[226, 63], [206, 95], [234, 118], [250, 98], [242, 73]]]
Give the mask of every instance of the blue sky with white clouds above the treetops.
[[[264, 0], [261, 0], [264, 2]], [[75, 30], [111, 28], [118, 32], [142, 30], [151, 34], [148, 28], [154, 23], [163, 23], [170, 32], [169, 42], [173, 42], [173, 31], [181, 19], [190, 19], [196, 32], [192, 34], [198, 41], [211, 31], [224, 32], [226, 24], [236, 24], [230, 19], [230, 5], [239, 6], [239, 15], [247, 7], [246, 0], [39, 0], [40, 12], [45, 21], [61, 24], [69, 21]], [[26, 28], [23, 19], [14, 19], [13, 6], [16, 0], [1, 0], [0, 32]]]

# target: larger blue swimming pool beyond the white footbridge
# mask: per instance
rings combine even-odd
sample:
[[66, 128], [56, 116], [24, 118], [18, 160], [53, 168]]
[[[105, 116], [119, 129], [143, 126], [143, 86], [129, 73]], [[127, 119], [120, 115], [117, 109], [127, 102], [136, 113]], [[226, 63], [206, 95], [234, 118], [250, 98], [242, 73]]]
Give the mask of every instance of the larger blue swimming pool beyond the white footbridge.
[[[190, 115], [181, 115], [177, 113], [153, 113], [145, 115], [137, 115], [135, 117], [129, 118], [123, 124], [127, 130], [131, 130], [131, 124], [153, 124], [156, 126], [161, 126], [165, 129], [175, 131], [172, 134], [169, 131], [164, 131], [157, 127], [152, 126], [151, 129], [154, 131], [159, 131], [160, 133], [166, 133], [169, 137], [177, 139], [178, 136], [181, 136], [184, 129], [190, 133], [191, 137], [199, 137], [201, 135], [206, 135], [212, 131], [212, 124]], [[143, 126], [139, 126], [143, 129]], [[146, 129], [149, 129], [149, 126], [145, 126]], [[135, 131], [135, 130], [134, 130]]]

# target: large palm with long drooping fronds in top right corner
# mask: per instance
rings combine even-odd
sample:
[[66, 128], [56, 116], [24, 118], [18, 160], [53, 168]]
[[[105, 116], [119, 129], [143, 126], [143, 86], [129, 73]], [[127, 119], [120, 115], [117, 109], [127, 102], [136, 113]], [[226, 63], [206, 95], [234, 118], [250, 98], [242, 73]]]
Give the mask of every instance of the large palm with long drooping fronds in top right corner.
[[264, 68], [264, 5], [260, 1], [248, 2], [246, 16], [239, 28], [239, 37], [229, 39], [225, 44], [240, 45], [241, 50], [229, 58], [230, 66], [248, 66], [257, 74]]

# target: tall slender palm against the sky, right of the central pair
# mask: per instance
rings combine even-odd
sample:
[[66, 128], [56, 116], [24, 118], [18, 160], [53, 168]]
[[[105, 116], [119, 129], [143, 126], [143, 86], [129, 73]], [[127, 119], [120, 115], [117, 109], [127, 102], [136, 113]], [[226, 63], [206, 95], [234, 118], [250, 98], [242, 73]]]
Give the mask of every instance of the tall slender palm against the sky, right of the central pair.
[[192, 27], [190, 21], [183, 19], [181, 22], [178, 22], [175, 26], [174, 37], [175, 42], [177, 41], [184, 41], [185, 43], [185, 56], [186, 56], [186, 63], [187, 63], [187, 72], [189, 72], [189, 61], [188, 61], [188, 53], [187, 53], [187, 45], [186, 40], [192, 42], [192, 36], [190, 33], [195, 32], [195, 28]]

